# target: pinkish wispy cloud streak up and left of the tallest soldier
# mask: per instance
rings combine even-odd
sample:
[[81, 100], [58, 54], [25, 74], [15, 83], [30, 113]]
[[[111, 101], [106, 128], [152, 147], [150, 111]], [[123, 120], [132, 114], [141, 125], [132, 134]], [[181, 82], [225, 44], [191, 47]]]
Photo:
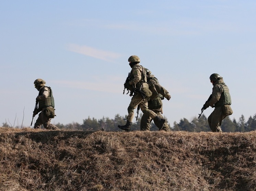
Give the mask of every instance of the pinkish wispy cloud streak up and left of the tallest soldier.
[[68, 44], [68, 50], [71, 52], [76, 52], [86, 56], [91, 56], [97, 59], [101, 59], [108, 62], [113, 62], [115, 59], [121, 57], [121, 54], [95, 49], [90, 46], [78, 45], [78, 44]]

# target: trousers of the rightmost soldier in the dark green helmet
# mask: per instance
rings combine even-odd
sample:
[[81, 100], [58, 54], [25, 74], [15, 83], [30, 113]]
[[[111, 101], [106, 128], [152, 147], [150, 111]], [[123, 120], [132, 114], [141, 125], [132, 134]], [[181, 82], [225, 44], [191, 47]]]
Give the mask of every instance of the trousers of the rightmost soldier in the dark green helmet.
[[208, 117], [208, 124], [212, 132], [222, 132], [221, 124], [226, 115], [222, 113], [222, 106], [214, 108], [213, 112]]

